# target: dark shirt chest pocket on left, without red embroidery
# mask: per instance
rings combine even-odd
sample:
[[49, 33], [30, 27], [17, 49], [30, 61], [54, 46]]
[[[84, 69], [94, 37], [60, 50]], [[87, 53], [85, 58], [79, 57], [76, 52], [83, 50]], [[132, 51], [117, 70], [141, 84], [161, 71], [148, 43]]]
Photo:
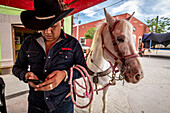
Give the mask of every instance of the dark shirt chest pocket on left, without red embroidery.
[[38, 63], [38, 51], [26, 51], [26, 55], [29, 61], [29, 64], [36, 64]]

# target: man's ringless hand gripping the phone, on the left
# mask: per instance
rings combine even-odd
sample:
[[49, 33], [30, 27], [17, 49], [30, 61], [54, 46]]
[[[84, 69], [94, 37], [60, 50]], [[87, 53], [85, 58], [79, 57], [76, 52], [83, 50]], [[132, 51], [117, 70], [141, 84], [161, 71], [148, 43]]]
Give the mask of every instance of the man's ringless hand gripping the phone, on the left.
[[[38, 77], [33, 73], [33, 72], [27, 72], [25, 74], [25, 79], [34, 79], [34, 80], [39, 80]], [[36, 85], [33, 82], [28, 82], [28, 84], [33, 87], [36, 88]]]

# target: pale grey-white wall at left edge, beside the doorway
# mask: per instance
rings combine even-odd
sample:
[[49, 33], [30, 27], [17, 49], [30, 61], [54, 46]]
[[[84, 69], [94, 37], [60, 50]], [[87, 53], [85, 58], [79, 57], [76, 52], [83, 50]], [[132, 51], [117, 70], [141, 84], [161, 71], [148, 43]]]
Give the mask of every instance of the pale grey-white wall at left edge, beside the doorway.
[[14, 15], [0, 14], [0, 38], [1, 38], [0, 67], [9, 67], [13, 65], [14, 48], [11, 24], [21, 24], [20, 17]]

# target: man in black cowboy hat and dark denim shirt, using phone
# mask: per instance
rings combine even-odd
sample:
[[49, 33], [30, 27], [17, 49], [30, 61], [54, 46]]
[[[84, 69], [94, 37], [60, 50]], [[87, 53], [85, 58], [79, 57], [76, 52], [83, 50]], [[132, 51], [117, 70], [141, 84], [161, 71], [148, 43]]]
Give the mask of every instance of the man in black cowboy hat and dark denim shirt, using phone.
[[[41, 33], [23, 42], [13, 74], [29, 84], [28, 113], [73, 113], [69, 70], [76, 64], [86, 67], [80, 44], [61, 29], [61, 19], [73, 9], [64, 10], [58, 0], [34, 0], [34, 9], [23, 11], [21, 21], [26, 28]], [[80, 76], [74, 71], [73, 79]]]

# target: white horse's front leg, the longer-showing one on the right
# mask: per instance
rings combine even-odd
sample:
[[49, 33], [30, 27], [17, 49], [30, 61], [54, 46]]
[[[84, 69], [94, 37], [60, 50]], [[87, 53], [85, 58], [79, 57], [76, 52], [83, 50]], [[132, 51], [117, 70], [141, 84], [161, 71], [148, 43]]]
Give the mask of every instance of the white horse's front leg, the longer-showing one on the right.
[[107, 112], [107, 91], [108, 91], [108, 87], [106, 87], [104, 90], [103, 90], [103, 97], [102, 97], [102, 100], [103, 100], [103, 113], [106, 113]]

